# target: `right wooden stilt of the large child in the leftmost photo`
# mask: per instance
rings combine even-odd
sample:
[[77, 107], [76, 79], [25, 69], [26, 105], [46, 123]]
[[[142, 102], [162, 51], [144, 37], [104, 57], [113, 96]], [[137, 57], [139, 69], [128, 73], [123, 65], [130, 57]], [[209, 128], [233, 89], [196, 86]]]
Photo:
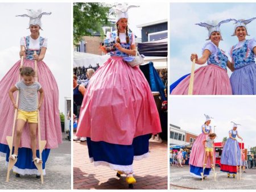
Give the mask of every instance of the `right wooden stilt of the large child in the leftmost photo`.
[[[34, 55], [36, 55], [36, 51], [34, 51]], [[38, 81], [38, 63], [35, 60], [35, 80]], [[37, 102], [38, 103], [38, 102]], [[41, 140], [41, 130], [40, 130], [40, 116], [39, 116], [39, 110], [38, 110], [38, 144], [39, 144], [39, 155], [40, 159], [42, 160], [42, 152], [44, 150], [44, 147], [46, 147], [46, 140]], [[43, 160], [40, 163], [37, 163], [34, 161], [36, 168], [38, 168], [40, 175], [41, 175], [41, 182], [44, 183], [44, 176], [43, 176]]]

